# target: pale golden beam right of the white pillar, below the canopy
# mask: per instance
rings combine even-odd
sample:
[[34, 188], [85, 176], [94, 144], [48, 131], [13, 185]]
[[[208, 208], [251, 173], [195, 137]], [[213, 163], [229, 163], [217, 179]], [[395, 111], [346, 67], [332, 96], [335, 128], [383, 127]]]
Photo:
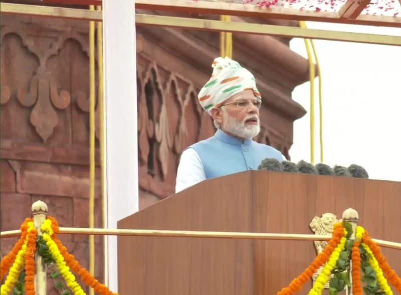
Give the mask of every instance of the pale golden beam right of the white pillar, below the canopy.
[[275, 25], [261, 25], [239, 22], [222, 22], [155, 15], [136, 15], [137, 25], [188, 28], [205, 31], [228, 31], [259, 35], [286, 36], [332, 41], [358, 42], [401, 46], [401, 37], [362, 33], [337, 32], [316, 29], [303, 29]]

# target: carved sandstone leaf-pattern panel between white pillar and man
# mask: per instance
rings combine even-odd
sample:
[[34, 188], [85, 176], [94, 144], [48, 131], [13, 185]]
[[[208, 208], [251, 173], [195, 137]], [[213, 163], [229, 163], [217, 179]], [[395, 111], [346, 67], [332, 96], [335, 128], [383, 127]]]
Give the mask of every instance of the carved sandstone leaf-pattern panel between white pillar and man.
[[[173, 193], [179, 154], [187, 145], [199, 140], [200, 129], [211, 126], [207, 132], [209, 136], [214, 129], [211, 118], [203, 117], [202, 110], [197, 107], [191, 81], [145, 56], [138, 55], [138, 59], [140, 64], [145, 64], [138, 67], [137, 74], [139, 165], [150, 176], [146, 189], [152, 191], [151, 187], [161, 185], [168, 193]], [[209, 125], [203, 126], [204, 121], [209, 121]], [[146, 178], [143, 173], [140, 177]]]

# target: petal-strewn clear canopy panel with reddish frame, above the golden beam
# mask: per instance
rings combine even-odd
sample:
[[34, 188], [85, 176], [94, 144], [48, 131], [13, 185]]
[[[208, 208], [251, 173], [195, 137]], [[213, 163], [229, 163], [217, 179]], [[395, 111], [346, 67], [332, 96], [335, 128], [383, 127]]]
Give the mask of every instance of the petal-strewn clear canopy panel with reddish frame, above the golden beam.
[[135, 5], [151, 10], [401, 28], [401, 0], [137, 0]]

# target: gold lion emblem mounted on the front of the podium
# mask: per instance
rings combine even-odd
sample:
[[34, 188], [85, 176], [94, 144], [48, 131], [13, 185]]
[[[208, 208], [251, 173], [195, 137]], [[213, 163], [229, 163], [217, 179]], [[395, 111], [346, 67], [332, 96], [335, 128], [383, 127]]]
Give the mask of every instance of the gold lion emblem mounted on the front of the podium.
[[[331, 235], [333, 233], [333, 226], [335, 223], [340, 222], [337, 216], [332, 213], [324, 213], [322, 217], [313, 217], [312, 221], [309, 223], [309, 227], [316, 235]], [[316, 249], [316, 254], [319, 255], [323, 252], [324, 248], [328, 245], [328, 241], [314, 241], [313, 242]], [[320, 272], [323, 270], [324, 265], [322, 265], [312, 276], [315, 281], [319, 276]], [[331, 275], [332, 277], [332, 275]], [[329, 283], [327, 282], [324, 286], [326, 289], [329, 288]]]

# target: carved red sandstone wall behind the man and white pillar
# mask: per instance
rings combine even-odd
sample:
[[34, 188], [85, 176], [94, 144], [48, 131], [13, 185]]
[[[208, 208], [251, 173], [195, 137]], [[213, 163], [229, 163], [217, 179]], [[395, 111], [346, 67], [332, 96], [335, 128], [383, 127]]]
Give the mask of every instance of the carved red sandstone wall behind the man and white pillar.
[[[38, 199], [48, 204], [49, 213], [61, 226], [88, 227], [88, 24], [2, 16], [1, 26], [1, 230], [19, 228], [24, 218], [30, 216], [31, 204]], [[217, 36], [138, 28], [140, 208], [174, 192], [182, 150], [214, 133], [211, 118], [198, 105], [196, 94], [209, 79], [210, 63], [218, 55], [218, 49], [211, 46]], [[283, 46], [283, 53], [290, 56], [287, 60], [299, 59], [292, 56], [282, 40], [269, 40], [273, 47]], [[238, 44], [234, 53], [240, 62], [251, 70], [263, 67], [256, 74], [266, 98], [258, 140], [288, 156], [292, 123], [304, 114], [291, 101], [291, 90], [307, 79], [307, 71], [294, 76], [297, 71], [280, 65], [274, 57], [269, 62], [268, 55], [263, 61], [256, 57], [251, 60], [246, 55], [246, 42]], [[306, 61], [298, 62], [305, 62], [307, 67]], [[269, 69], [269, 63], [276, 63], [275, 68]], [[277, 67], [282, 68], [281, 76], [271, 74], [266, 78], [265, 74], [275, 73]], [[98, 138], [98, 128], [96, 131]], [[121, 132], [124, 134], [124, 130]], [[102, 227], [98, 141], [96, 145], [95, 226]], [[88, 236], [61, 238], [88, 267]], [[2, 239], [2, 257], [15, 241]], [[103, 280], [102, 239], [96, 237], [95, 241], [95, 275]], [[56, 293], [51, 282], [49, 293]]]

